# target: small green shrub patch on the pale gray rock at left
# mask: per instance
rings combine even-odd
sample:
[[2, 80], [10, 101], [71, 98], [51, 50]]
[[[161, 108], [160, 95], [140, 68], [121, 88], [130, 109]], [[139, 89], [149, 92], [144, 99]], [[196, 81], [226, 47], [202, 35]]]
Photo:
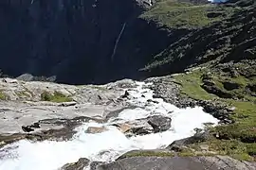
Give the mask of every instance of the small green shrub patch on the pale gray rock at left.
[[68, 96], [65, 96], [63, 93], [59, 93], [59, 92], [49, 93], [45, 91], [41, 93], [41, 100], [61, 103], [61, 102], [70, 102], [73, 99]]

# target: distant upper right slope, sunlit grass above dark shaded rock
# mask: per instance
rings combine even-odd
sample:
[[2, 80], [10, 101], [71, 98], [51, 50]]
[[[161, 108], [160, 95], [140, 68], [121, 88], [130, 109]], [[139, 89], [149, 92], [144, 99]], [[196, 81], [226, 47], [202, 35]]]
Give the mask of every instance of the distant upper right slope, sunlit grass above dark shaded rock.
[[220, 6], [180, 1], [161, 0], [141, 16], [165, 26], [171, 32], [170, 39], [175, 40], [142, 71], [162, 76], [201, 63], [253, 58], [251, 54], [256, 52], [256, 47], [251, 46], [256, 35], [253, 0], [234, 0], [237, 2]]

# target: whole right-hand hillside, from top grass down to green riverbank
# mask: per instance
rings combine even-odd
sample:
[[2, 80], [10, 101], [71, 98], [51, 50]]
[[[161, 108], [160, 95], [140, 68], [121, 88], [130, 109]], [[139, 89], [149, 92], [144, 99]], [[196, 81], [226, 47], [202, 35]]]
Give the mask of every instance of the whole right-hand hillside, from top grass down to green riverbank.
[[[185, 74], [163, 78], [161, 90], [168, 92], [166, 83], [171, 80], [181, 87], [176, 104], [200, 105], [223, 118], [224, 125], [210, 129], [210, 140], [188, 144], [189, 148], [200, 150], [200, 144], [207, 144], [213, 152], [255, 161], [255, 1], [234, 0], [218, 6], [173, 3], [161, 1], [143, 17], [171, 29], [190, 28], [191, 32], [156, 55], [143, 70], [154, 76], [185, 70]], [[183, 12], [176, 12], [173, 6], [182, 8]], [[176, 19], [178, 22], [174, 22]], [[165, 93], [161, 95], [167, 97]], [[182, 152], [194, 155], [192, 150]]]

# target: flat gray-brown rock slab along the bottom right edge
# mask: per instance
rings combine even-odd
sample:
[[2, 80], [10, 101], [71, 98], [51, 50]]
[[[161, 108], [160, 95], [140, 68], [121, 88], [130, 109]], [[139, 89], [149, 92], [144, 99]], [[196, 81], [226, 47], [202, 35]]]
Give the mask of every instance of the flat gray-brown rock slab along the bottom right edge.
[[229, 157], [134, 157], [97, 167], [98, 170], [255, 170], [255, 164]]

